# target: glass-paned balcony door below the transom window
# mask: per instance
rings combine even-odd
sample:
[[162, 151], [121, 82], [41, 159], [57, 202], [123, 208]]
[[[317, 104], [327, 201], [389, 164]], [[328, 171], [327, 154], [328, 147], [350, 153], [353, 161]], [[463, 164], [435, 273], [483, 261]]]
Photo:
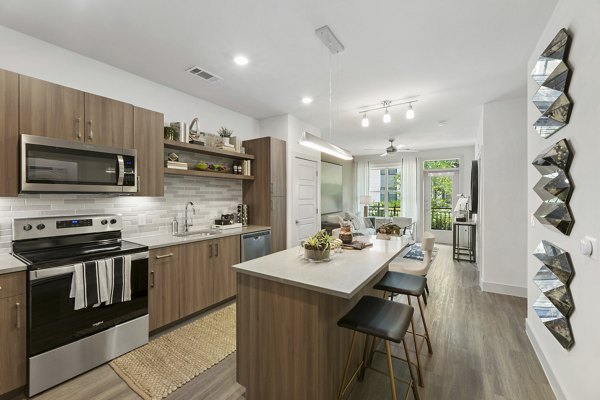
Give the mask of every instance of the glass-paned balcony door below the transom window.
[[424, 228], [438, 243], [452, 243], [453, 209], [458, 194], [458, 171], [426, 172], [423, 191]]

